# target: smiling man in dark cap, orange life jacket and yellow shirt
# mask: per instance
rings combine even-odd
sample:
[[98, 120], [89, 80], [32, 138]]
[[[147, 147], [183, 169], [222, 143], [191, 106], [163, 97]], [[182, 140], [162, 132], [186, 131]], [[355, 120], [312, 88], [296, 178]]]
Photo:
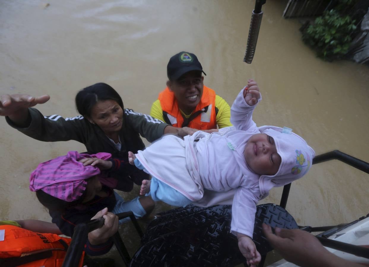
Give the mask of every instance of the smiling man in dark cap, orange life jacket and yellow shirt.
[[199, 130], [231, 126], [230, 106], [204, 86], [201, 63], [189, 52], [179, 52], [168, 62], [166, 88], [152, 104], [150, 115], [175, 127]]

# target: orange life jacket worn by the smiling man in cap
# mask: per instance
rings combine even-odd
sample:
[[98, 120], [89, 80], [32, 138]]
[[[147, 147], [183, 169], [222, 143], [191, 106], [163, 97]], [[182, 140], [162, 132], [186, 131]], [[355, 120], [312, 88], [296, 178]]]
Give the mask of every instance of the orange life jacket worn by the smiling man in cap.
[[190, 127], [199, 130], [217, 129], [215, 91], [204, 86], [199, 104], [189, 119], [183, 117], [174, 93], [166, 87], [158, 97], [163, 110], [164, 121], [174, 127]]

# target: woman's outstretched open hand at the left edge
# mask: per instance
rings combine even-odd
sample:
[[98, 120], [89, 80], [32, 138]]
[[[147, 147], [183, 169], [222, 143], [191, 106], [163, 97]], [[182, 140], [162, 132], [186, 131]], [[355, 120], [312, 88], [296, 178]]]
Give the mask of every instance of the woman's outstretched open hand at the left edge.
[[4, 94], [0, 96], [0, 116], [9, 116], [22, 109], [27, 110], [37, 104], [44, 104], [49, 99], [48, 95], [33, 97], [28, 94]]

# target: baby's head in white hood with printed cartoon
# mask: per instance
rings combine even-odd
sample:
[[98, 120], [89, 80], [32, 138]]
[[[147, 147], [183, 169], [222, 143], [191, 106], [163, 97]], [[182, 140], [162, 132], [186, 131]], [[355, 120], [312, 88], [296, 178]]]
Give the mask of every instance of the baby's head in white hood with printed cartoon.
[[259, 127], [261, 133], [252, 135], [245, 146], [244, 156], [249, 168], [261, 176], [262, 183], [270, 181], [271, 187], [302, 177], [310, 169], [315, 155], [304, 139], [288, 129]]

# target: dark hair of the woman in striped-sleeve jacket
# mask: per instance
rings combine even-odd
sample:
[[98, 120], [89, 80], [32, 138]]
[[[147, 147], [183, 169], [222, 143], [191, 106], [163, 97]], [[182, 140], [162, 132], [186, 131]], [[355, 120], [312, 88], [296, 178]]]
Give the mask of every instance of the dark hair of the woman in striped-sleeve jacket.
[[80, 90], [76, 95], [76, 108], [83, 117], [90, 117], [92, 107], [100, 100], [114, 100], [122, 110], [123, 101], [120, 95], [106, 83], [95, 83]]

